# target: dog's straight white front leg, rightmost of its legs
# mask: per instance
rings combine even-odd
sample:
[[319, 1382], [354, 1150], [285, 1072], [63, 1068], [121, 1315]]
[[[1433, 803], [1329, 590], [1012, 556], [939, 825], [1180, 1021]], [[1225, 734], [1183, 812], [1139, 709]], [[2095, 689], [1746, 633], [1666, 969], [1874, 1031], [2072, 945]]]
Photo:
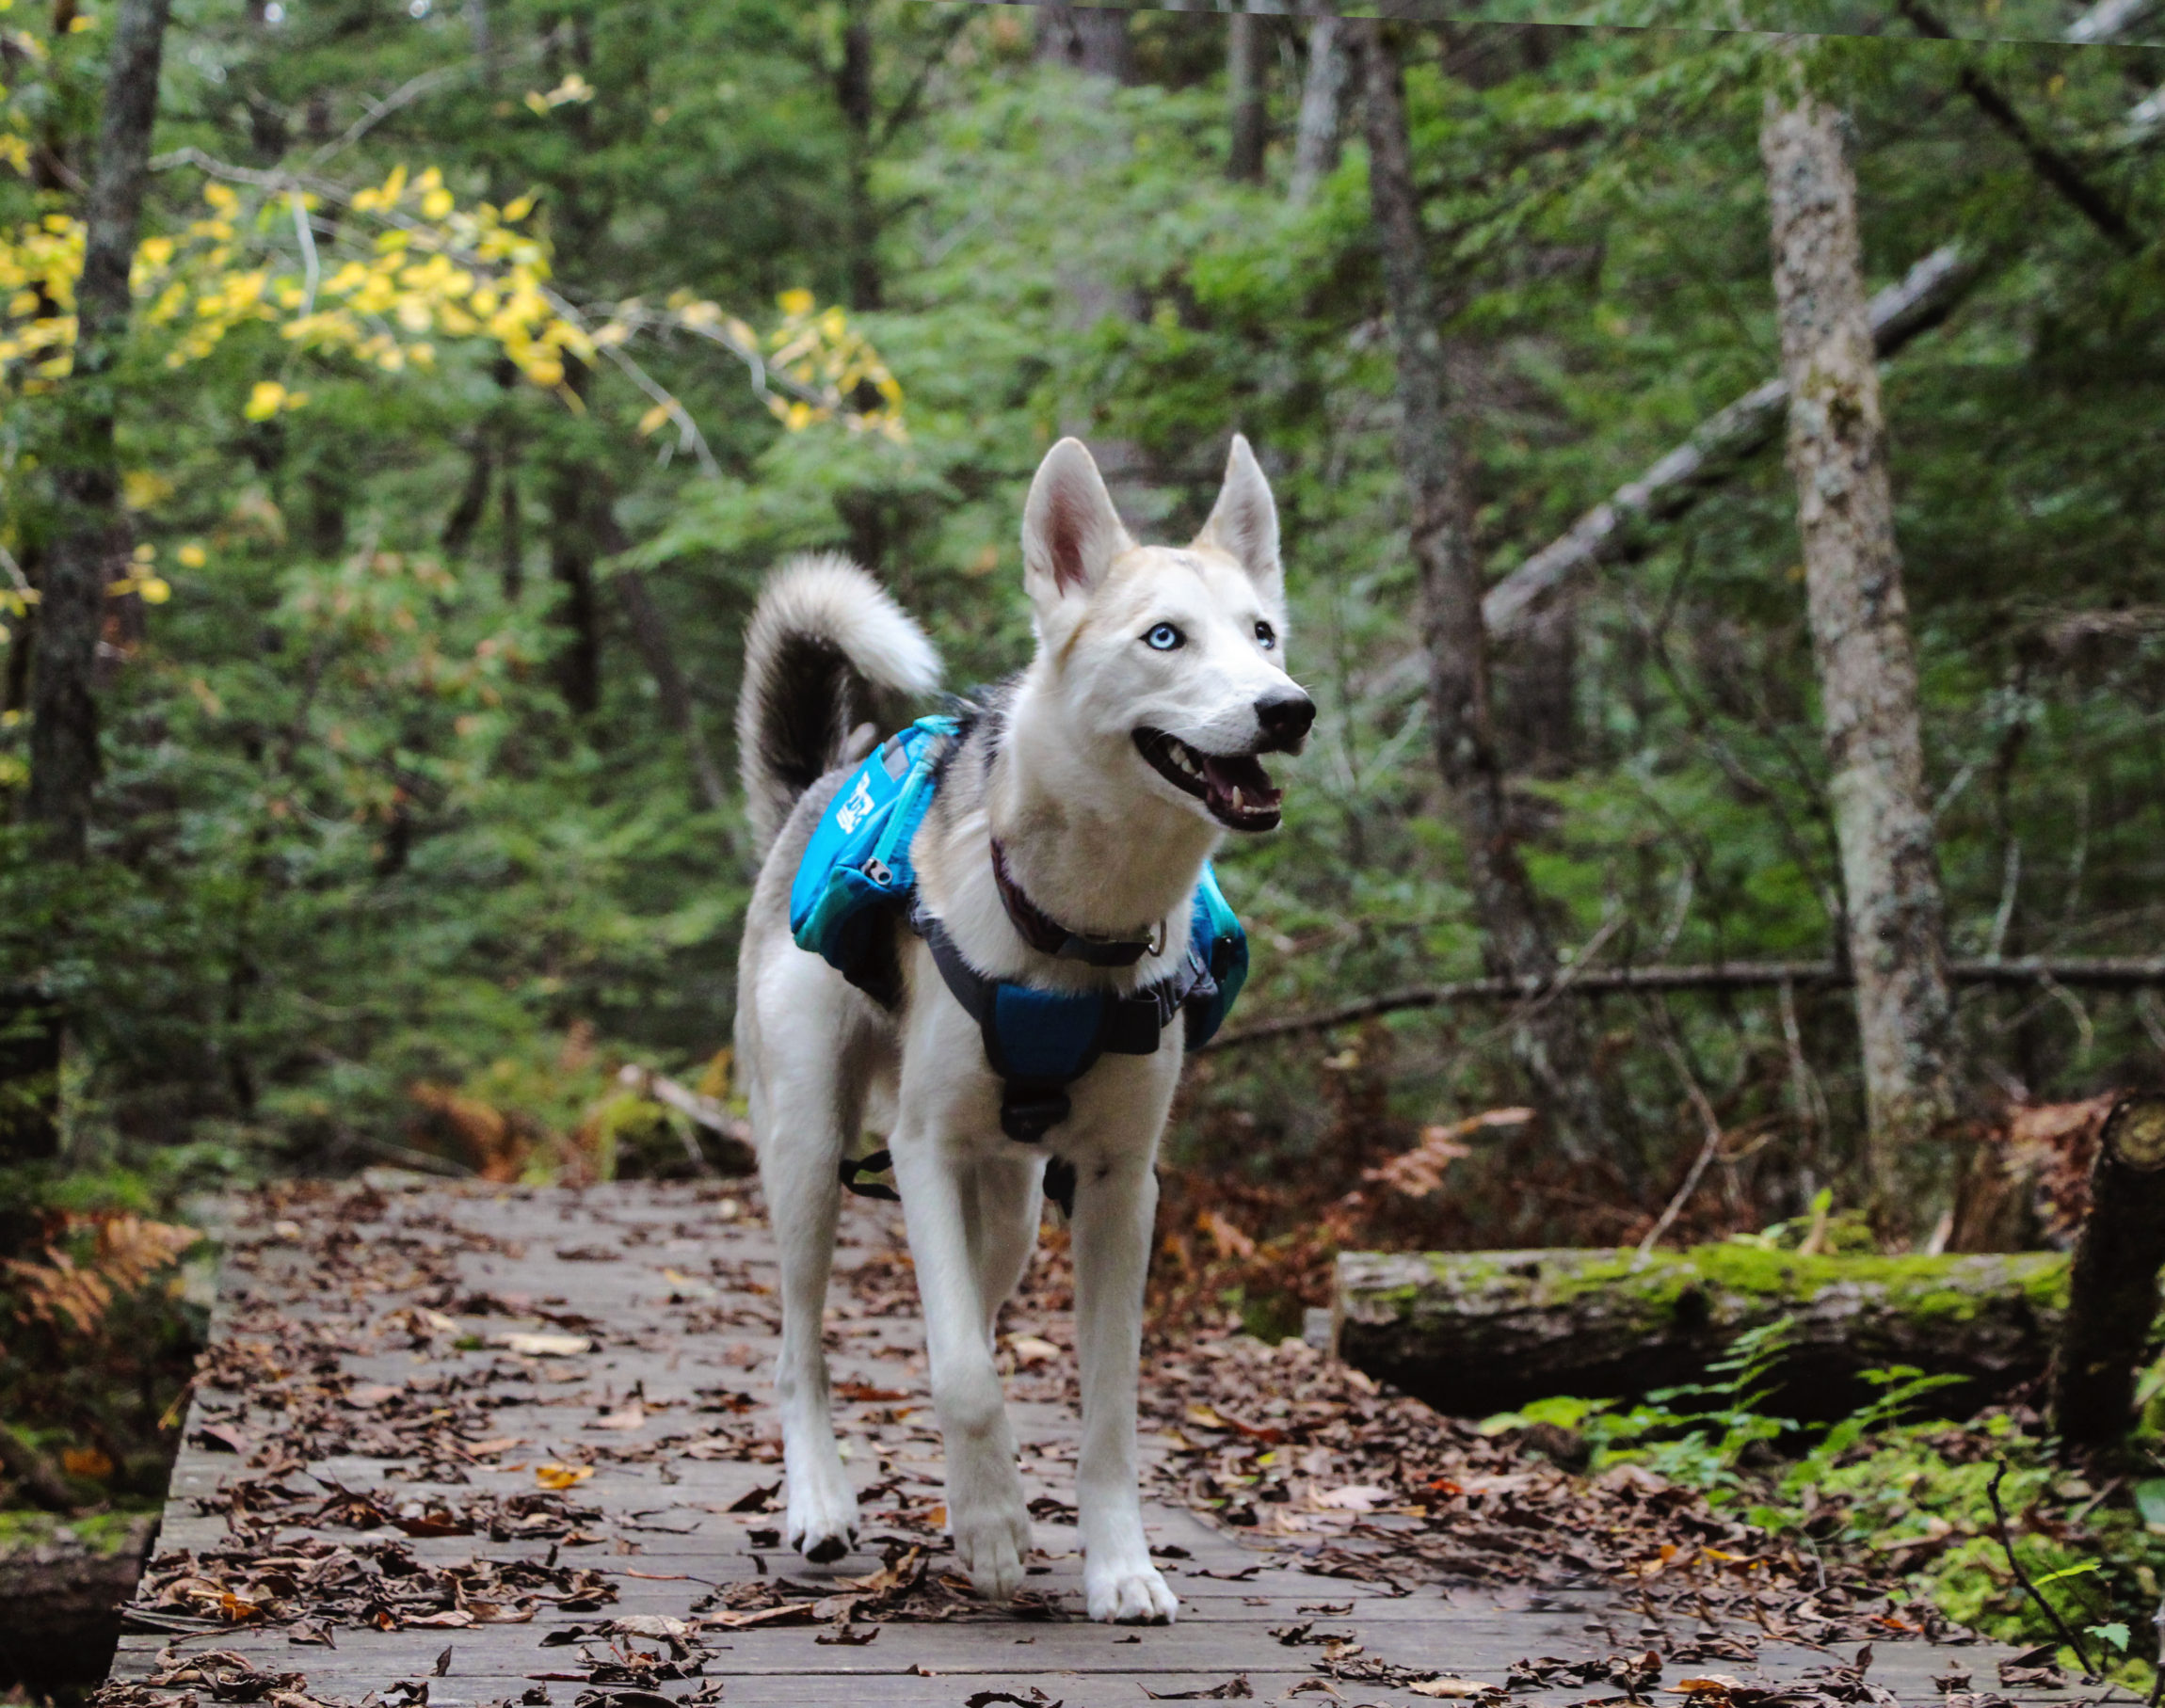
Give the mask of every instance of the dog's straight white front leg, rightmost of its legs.
[[1082, 1364], [1082, 1591], [1091, 1619], [1167, 1624], [1178, 1600], [1150, 1563], [1134, 1468], [1143, 1271], [1158, 1214], [1150, 1158], [1115, 1158], [1076, 1184], [1076, 1351]]

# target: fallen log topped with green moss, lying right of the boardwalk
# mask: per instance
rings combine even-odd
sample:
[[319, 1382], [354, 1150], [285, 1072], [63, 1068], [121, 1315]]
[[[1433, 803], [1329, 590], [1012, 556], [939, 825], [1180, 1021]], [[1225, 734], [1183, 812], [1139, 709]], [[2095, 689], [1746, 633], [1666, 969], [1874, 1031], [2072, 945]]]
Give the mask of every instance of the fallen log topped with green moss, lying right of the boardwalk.
[[1786, 1316], [1777, 1416], [1845, 1416], [1877, 1392], [1862, 1372], [1888, 1364], [1961, 1377], [1925, 1403], [1968, 1416], [2044, 1375], [2065, 1308], [2059, 1253], [1347, 1251], [1331, 1331], [1357, 1370], [1483, 1418], [1702, 1381], [1738, 1333]]

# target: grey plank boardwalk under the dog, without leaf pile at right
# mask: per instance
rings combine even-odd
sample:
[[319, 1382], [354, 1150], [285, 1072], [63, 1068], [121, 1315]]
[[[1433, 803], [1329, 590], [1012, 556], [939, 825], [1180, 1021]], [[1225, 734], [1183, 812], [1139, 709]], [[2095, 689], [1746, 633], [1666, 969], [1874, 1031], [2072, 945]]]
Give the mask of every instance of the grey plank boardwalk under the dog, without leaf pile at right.
[[[747, 1195], [392, 1182], [362, 1197], [229, 1230], [214, 1357], [115, 1682], [271, 1699], [186, 1678], [186, 1656], [225, 1652], [312, 1702], [431, 1708], [963, 1708], [985, 1691], [1024, 1708], [1293, 1693], [1414, 1708], [1455, 1689], [1438, 1673], [1503, 1686], [1537, 1656], [1682, 1652], [1669, 1686], [1780, 1684], [1851, 1658], [1762, 1641], [1756, 1660], [1723, 1660], [1710, 1628], [1598, 1593], [1314, 1576], [1299, 1552], [1163, 1500], [1150, 1537], [1180, 1621], [1091, 1624], [1070, 1505], [1076, 1418], [1065, 1385], [1037, 1375], [1052, 1327], [1031, 1321], [1009, 1340], [1039, 1554], [1026, 1606], [983, 1608], [942, 1585], [940, 1437], [894, 1214], [855, 1204], [840, 1262], [885, 1279], [838, 1286], [829, 1346], [864, 1550], [814, 1567], [777, 1546], [771, 1245]], [[416, 1593], [427, 1585], [435, 1600]], [[1994, 1691], [1998, 1654], [1881, 1643], [1871, 1684], [1901, 1704], [1936, 1702], [1946, 1671]], [[1658, 1691], [1522, 1678], [1513, 1699]]]

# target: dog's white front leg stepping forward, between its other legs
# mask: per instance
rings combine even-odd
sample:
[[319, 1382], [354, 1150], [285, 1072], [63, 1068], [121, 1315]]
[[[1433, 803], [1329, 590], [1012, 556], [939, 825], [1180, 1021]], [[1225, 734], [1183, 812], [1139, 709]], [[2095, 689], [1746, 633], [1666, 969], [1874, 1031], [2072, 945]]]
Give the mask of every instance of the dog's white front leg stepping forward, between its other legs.
[[968, 1171], [968, 1158], [940, 1141], [911, 1143], [896, 1134], [894, 1182], [918, 1266], [933, 1409], [946, 1444], [948, 1530], [976, 1593], [1007, 1602], [1022, 1589], [1031, 1513], [1022, 1505], [1015, 1433], [985, 1336], [979, 1262], [963, 1210], [963, 1191], [974, 1191]]

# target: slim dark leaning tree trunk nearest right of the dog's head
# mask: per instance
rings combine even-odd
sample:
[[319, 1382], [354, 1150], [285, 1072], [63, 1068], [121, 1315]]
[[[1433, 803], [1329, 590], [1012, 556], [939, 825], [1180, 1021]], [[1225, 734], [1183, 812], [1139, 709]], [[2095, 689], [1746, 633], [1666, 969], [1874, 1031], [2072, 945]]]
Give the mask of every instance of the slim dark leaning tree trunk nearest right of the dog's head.
[[[1420, 587], [1420, 636], [1429, 658], [1435, 762], [1466, 844], [1474, 916], [1490, 972], [1548, 976], [1557, 970], [1557, 948], [1518, 853], [1490, 712], [1481, 565], [1468, 526], [1451, 411], [1444, 310], [1429, 273], [1420, 201], [1414, 190], [1405, 82], [1386, 26], [1362, 19], [1349, 28], [1360, 32], [1368, 199], [1377, 242], [1383, 249], [1392, 342], [1399, 357], [1399, 470], [1412, 509], [1409, 546]], [[1602, 1108], [1576, 1007], [1552, 1002], [1528, 1013], [1516, 1026], [1513, 1048], [1539, 1087], [1544, 1113], [1567, 1154], [1580, 1160], [1611, 1160], [1630, 1171], [1632, 1158], [1617, 1145], [1613, 1124]]]

